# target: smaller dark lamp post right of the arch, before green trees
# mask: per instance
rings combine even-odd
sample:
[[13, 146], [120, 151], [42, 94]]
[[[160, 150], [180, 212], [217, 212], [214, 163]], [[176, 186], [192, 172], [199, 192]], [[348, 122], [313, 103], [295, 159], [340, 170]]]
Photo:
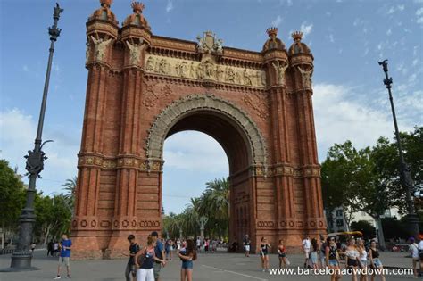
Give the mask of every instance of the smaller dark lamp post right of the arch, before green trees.
[[419, 236], [419, 217], [416, 214], [416, 210], [414, 208], [414, 202], [412, 198], [412, 190], [414, 189], [414, 184], [412, 182], [410, 169], [407, 165], [407, 163], [404, 161], [404, 155], [402, 153], [402, 145], [401, 145], [401, 139], [400, 139], [400, 132], [398, 130], [398, 124], [396, 123], [396, 114], [395, 114], [395, 108], [394, 108], [394, 100], [392, 98], [391, 93], [391, 84], [392, 84], [392, 78], [389, 78], [388, 76], [388, 69], [387, 69], [387, 60], [383, 62], [378, 62], [379, 65], [382, 65], [383, 70], [385, 72], [385, 79], [384, 84], [386, 85], [386, 88], [389, 93], [389, 101], [391, 102], [391, 109], [392, 109], [392, 116], [394, 119], [394, 127], [395, 127], [395, 136], [396, 136], [396, 144], [398, 145], [398, 151], [400, 153], [400, 177], [401, 177], [401, 183], [402, 187], [405, 190], [406, 193], [406, 200], [407, 200], [407, 222], [408, 222], [408, 228], [412, 236], [418, 237]]

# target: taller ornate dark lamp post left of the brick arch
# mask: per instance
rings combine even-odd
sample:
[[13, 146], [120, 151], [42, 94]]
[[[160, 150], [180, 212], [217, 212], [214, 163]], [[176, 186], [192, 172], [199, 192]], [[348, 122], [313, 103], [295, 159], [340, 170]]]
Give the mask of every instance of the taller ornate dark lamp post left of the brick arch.
[[56, 4], [53, 12], [54, 24], [51, 28], [48, 29], [48, 34], [50, 35], [50, 49], [48, 56], [48, 64], [46, 71], [46, 82], [44, 84], [43, 100], [41, 103], [41, 110], [39, 113], [37, 136], [35, 139], [34, 150], [29, 151], [28, 156], [25, 156], [27, 159], [26, 169], [29, 173], [29, 186], [27, 190], [27, 202], [25, 208], [22, 210], [20, 217], [20, 229], [19, 229], [19, 240], [16, 250], [12, 254], [12, 263], [10, 271], [21, 271], [21, 270], [31, 270], [36, 269], [31, 267], [32, 253], [29, 251], [29, 245], [32, 243], [32, 232], [35, 223], [35, 213], [34, 213], [34, 198], [36, 194], [36, 181], [39, 177], [39, 173], [44, 169], [44, 160], [46, 160], [46, 155], [42, 151], [43, 145], [47, 142], [41, 143], [41, 136], [43, 134], [43, 125], [44, 125], [44, 116], [46, 112], [46, 101], [48, 93], [48, 84], [50, 81], [50, 71], [52, 69], [52, 60], [54, 53], [54, 42], [57, 40], [57, 37], [60, 36], [61, 29], [57, 28], [57, 22], [59, 21], [60, 14], [63, 12], [63, 9], [60, 8], [59, 4]]

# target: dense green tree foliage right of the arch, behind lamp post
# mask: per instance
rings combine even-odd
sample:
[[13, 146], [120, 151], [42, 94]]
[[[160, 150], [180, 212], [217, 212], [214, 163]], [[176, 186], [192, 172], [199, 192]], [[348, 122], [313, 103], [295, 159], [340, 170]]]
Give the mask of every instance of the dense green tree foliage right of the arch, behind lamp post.
[[[416, 186], [413, 194], [419, 197], [423, 188], [423, 128], [415, 127], [411, 133], [402, 133], [401, 138]], [[342, 206], [347, 223], [356, 211], [365, 211], [375, 219], [392, 207], [404, 212], [405, 191], [400, 182], [399, 162], [396, 142], [385, 137], [380, 137], [375, 146], [360, 150], [351, 141], [333, 145], [321, 165], [325, 208], [333, 211]]]

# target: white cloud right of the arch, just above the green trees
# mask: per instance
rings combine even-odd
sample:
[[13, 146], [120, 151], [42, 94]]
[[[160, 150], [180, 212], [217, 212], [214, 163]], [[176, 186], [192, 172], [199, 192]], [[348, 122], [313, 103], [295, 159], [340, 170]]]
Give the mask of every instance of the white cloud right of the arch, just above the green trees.
[[[372, 106], [372, 103], [380, 103], [375, 95], [359, 95], [355, 88], [326, 83], [314, 85], [313, 92], [320, 160], [326, 158], [324, 153], [335, 143], [344, 143], [349, 139], [356, 147], [365, 147], [375, 145], [379, 136], [393, 136], [394, 126], [390, 109], [377, 109]], [[380, 94], [381, 101], [386, 103], [385, 91]], [[413, 96], [407, 102], [395, 104], [398, 105], [398, 112], [403, 112], [404, 105], [412, 101], [415, 103], [416, 99], [417, 96]], [[412, 126], [402, 122], [401, 130], [411, 130]]]

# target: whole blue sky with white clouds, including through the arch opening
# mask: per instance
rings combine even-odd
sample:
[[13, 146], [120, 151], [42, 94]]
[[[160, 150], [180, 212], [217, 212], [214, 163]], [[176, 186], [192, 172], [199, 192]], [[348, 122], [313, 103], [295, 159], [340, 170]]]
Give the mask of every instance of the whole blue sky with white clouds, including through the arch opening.
[[[46, 75], [49, 38], [56, 1], [0, 1], [0, 158], [25, 173], [23, 156], [33, 149]], [[85, 43], [87, 17], [96, 0], [59, 1], [64, 12], [55, 45], [43, 140], [48, 159], [37, 189], [62, 193], [77, 175], [87, 88]], [[224, 46], [261, 51], [271, 26], [286, 46], [294, 30], [314, 55], [313, 107], [319, 149], [352, 140], [374, 145], [392, 138], [394, 125], [377, 61], [388, 59], [394, 79], [399, 128], [422, 126], [423, 0], [145, 0], [145, 18], [154, 35], [195, 41], [212, 30]], [[129, 0], [115, 0], [120, 23], [132, 12]], [[228, 159], [210, 136], [181, 132], [164, 145], [163, 206], [179, 212], [205, 183], [228, 177]], [[28, 179], [25, 179], [28, 181]]]

